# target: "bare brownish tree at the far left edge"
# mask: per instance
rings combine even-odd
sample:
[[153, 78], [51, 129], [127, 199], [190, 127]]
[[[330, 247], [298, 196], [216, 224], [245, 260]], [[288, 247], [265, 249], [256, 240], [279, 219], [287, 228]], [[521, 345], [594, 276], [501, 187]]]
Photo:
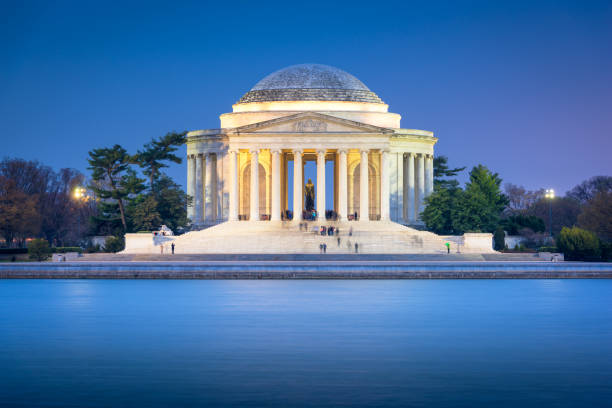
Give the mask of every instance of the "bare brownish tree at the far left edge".
[[14, 180], [0, 176], [0, 234], [7, 246], [15, 239], [23, 242], [38, 234], [41, 219], [37, 206], [37, 195], [24, 193]]

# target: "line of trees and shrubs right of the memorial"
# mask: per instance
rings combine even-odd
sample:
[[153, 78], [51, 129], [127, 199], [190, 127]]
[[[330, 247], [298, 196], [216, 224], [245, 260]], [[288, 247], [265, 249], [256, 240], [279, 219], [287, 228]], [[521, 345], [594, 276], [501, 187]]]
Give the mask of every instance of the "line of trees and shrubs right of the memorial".
[[[549, 199], [545, 190], [527, 190], [507, 183], [483, 165], [475, 166], [464, 187], [454, 178], [465, 167], [449, 168], [448, 158], [434, 159], [434, 192], [426, 198], [421, 219], [441, 235], [466, 232], [496, 234], [496, 249], [504, 249], [504, 231], [521, 235], [526, 246], [554, 246], [568, 253], [594, 246], [581, 259], [608, 258], [612, 245], [612, 177], [592, 177], [564, 196]], [[549, 221], [549, 211], [552, 224]], [[554, 239], [550, 240], [550, 235]], [[580, 244], [576, 244], [576, 242]], [[567, 246], [568, 242], [574, 244]], [[593, 244], [593, 243], [596, 243]], [[554, 248], [551, 248], [554, 249]], [[570, 254], [569, 258], [572, 258]]]

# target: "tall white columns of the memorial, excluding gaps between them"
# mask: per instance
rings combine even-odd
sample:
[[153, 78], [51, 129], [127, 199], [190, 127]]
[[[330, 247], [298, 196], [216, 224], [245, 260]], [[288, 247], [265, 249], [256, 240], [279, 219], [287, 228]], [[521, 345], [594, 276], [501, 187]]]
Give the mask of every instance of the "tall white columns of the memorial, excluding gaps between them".
[[[250, 180], [250, 219], [259, 219], [259, 149], [250, 150], [251, 153], [251, 180]], [[293, 196], [303, 195], [303, 150], [294, 149]], [[316, 209], [318, 217], [325, 219], [325, 150], [317, 151], [317, 200]], [[347, 153], [346, 149], [339, 149], [338, 160], [338, 215], [346, 220], [348, 215], [348, 183], [347, 183]], [[238, 152], [230, 150], [229, 155], [229, 220], [238, 220], [239, 214], [239, 179], [238, 179]], [[215, 160], [216, 156], [216, 160]], [[188, 216], [196, 224], [214, 223], [223, 218], [222, 208], [218, 208], [218, 192], [222, 190], [224, 180], [219, 177], [220, 155], [216, 153], [194, 154], [188, 156], [188, 182], [187, 194], [194, 198], [193, 205], [188, 208]], [[391, 195], [391, 168], [390, 158], [397, 168], [393, 172], [394, 213], [390, 211]], [[367, 220], [369, 215], [369, 165], [368, 150], [360, 151], [360, 218]], [[272, 149], [272, 201], [271, 220], [281, 219], [281, 150]], [[215, 162], [217, 168], [215, 168]], [[227, 162], [226, 162], [227, 163]], [[380, 218], [393, 219], [397, 222], [414, 224], [418, 222], [418, 215], [423, 210], [423, 200], [433, 191], [433, 156], [421, 153], [389, 153], [381, 151], [380, 162]], [[226, 173], [227, 174], [227, 173]], [[302, 200], [293, 200], [294, 219], [300, 220], [302, 214]], [[221, 206], [222, 207], [222, 206]], [[295, 217], [297, 215], [297, 217]], [[365, 218], [364, 218], [365, 217]]]

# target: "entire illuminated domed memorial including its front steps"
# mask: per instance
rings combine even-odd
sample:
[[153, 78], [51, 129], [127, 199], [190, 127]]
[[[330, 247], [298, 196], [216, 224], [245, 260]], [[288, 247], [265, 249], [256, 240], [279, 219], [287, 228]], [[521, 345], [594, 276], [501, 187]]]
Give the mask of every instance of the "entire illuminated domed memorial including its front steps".
[[[294, 65], [260, 80], [216, 129], [187, 134], [192, 231], [126, 235], [127, 253], [488, 252], [490, 234], [421, 231], [433, 132], [338, 68]], [[309, 164], [310, 162], [310, 164]], [[315, 182], [305, 177], [310, 167]], [[326, 186], [327, 184], [327, 186]], [[333, 234], [321, 234], [321, 229]], [[329, 241], [329, 242], [328, 242]], [[159, 248], [161, 246], [161, 248]]]

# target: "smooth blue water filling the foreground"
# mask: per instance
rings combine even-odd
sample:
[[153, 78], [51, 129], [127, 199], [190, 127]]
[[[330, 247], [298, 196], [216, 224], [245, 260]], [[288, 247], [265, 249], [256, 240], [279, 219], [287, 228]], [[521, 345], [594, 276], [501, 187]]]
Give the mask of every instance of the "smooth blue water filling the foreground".
[[0, 281], [3, 407], [611, 404], [611, 280]]

